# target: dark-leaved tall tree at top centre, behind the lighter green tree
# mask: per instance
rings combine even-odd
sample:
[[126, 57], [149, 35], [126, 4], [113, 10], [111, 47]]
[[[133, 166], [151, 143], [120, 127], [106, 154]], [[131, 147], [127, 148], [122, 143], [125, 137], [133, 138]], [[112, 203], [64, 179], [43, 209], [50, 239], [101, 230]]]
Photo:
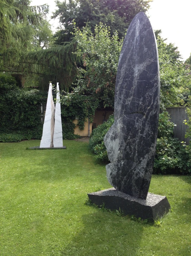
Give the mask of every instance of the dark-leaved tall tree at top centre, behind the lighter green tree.
[[147, 11], [152, 0], [64, 0], [56, 1], [58, 10], [52, 18], [59, 17], [62, 28], [55, 34], [56, 44], [70, 41], [73, 32], [72, 20], [82, 29], [88, 22], [91, 31], [103, 23], [110, 27], [111, 35], [117, 30], [122, 38], [131, 20], [140, 11]]

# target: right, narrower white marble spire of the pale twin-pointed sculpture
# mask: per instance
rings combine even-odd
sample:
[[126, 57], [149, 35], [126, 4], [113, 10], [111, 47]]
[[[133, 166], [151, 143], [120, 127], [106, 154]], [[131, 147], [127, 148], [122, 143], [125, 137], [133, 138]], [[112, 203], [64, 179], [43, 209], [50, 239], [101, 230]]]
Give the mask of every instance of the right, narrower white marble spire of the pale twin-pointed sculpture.
[[61, 122], [61, 107], [60, 107], [60, 91], [59, 85], [57, 83], [57, 102], [55, 107], [55, 116], [54, 116], [54, 136], [53, 136], [53, 145], [54, 148], [63, 147], [62, 140], [62, 122]]

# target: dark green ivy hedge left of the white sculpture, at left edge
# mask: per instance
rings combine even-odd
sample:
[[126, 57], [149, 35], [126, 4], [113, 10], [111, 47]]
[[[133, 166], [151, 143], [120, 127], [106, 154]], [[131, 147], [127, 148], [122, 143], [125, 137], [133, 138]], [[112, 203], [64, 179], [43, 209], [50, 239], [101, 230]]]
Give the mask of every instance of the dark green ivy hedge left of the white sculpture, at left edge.
[[0, 141], [40, 139], [42, 102], [38, 90], [20, 89], [13, 77], [0, 74]]

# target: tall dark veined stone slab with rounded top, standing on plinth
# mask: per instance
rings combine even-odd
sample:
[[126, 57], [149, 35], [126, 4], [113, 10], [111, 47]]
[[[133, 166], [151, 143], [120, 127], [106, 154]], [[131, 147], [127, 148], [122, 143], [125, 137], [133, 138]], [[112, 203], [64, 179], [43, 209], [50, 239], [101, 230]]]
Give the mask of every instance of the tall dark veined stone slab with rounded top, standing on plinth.
[[114, 124], [105, 135], [109, 183], [146, 199], [154, 164], [159, 119], [157, 43], [148, 17], [139, 12], [125, 36], [119, 59]]

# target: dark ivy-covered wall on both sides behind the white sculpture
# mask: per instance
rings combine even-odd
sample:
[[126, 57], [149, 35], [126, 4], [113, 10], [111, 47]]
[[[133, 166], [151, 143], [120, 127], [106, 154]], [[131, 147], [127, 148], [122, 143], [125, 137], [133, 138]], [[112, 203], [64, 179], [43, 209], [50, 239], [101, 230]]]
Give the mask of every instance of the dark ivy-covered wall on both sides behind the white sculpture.
[[[0, 74], [0, 142], [41, 139], [41, 104], [46, 101], [47, 95], [19, 88], [13, 77]], [[60, 102], [63, 139], [79, 138], [74, 134], [73, 120], [78, 117], [79, 129], [83, 130], [88, 117], [93, 121], [98, 101], [78, 92], [65, 92]]]

